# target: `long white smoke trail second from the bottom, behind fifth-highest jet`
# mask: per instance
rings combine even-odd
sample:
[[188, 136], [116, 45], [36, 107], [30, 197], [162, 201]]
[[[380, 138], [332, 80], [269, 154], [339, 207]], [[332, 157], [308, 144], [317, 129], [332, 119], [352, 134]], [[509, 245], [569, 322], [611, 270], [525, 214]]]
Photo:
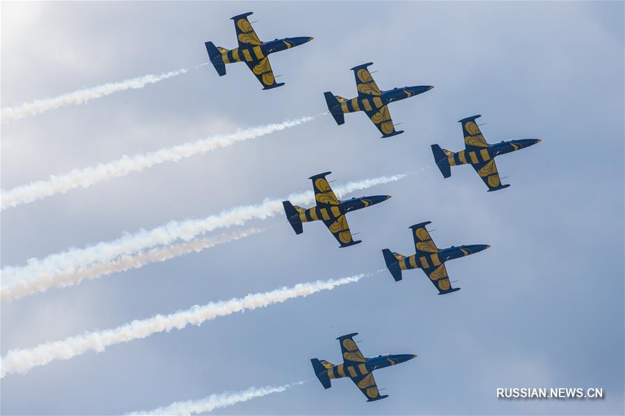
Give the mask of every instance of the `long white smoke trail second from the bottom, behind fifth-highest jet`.
[[[371, 275], [369, 273], [368, 275]], [[0, 378], [7, 374], [24, 374], [33, 367], [46, 365], [54, 360], [69, 360], [90, 350], [102, 352], [106, 347], [131, 340], [146, 338], [153, 333], [183, 329], [188, 324], [201, 325], [207, 320], [263, 308], [271, 304], [285, 302], [295, 297], [308, 296], [319, 291], [329, 291], [337, 286], [359, 281], [367, 274], [343, 277], [342, 279], [315, 281], [283, 287], [265, 293], [253, 293], [243, 298], [211, 302], [203, 306], [192, 306], [185, 311], [169, 315], [155, 315], [144, 320], [133, 320], [114, 329], [87, 332], [83, 335], [66, 338], [62, 341], [40, 344], [33, 349], [12, 349], [0, 360]]]

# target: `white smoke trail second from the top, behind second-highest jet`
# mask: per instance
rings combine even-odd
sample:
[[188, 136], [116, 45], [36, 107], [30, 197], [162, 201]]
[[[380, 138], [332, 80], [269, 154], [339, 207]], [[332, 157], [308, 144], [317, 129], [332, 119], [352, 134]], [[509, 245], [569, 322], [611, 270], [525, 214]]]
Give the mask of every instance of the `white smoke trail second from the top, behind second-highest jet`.
[[255, 139], [256, 137], [269, 135], [272, 132], [308, 123], [308, 121], [313, 121], [319, 115], [239, 129], [226, 135], [215, 135], [206, 139], [162, 148], [155, 152], [142, 153], [133, 157], [124, 155], [113, 162], [83, 169], [74, 169], [63, 175], [51, 175], [47, 180], [38, 180], [15, 187], [9, 191], [2, 191], [0, 194], [0, 209], [17, 207], [17, 205], [27, 204], [56, 193], [65, 193], [80, 187], [90, 187], [92, 184], [113, 179], [113, 177], [128, 175], [131, 172], [139, 172], [156, 164], [178, 162], [185, 157], [203, 155], [217, 148], [231, 146], [238, 141]]

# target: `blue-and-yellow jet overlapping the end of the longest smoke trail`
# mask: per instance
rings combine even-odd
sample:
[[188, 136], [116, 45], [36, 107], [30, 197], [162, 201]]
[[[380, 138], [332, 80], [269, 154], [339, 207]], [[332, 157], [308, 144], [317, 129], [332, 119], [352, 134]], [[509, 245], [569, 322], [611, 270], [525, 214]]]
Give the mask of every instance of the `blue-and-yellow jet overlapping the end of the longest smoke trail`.
[[295, 234], [303, 233], [302, 223], [322, 220], [341, 247], [349, 247], [349, 245], [358, 244], [362, 241], [353, 241], [345, 214], [350, 211], [356, 211], [356, 209], [376, 205], [387, 200], [390, 196], [363, 196], [362, 198], [351, 198], [350, 200], [341, 201], [336, 198], [328, 180], [326, 180], [326, 175], [331, 173], [319, 173], [319, 175], [308, 178], [313, 180], [313, 191], [315, 191], [315, 201], [317, 201], [316, 207], [305, 209], [292, 205], [289, 201], [282, 202], [282, 205]]

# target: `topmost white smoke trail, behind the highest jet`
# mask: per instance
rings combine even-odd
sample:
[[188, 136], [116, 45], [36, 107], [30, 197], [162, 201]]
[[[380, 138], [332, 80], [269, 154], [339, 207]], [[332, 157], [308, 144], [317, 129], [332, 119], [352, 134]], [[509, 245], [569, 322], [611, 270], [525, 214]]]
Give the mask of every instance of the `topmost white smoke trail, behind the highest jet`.
[[35, 116], [37, 114], [41, 114], [42, 112], [65, 107], [67, 105], [84, 104], [88, 101], [108, 96], [115, 92], [124, 91], [126, 89], [140, 89], [148, 84], [156, 84], [162, 80], [166, 80], [167, 78], [187, 73], [188, 71], [188, 69], [183, 68], [178, 69], [177, 71], [164, 72], [160, 75], [149, 73], [148, 75], [123, 80], [119, 83], [106, 83], [103, 85], [97, 85], [96, 87], [78, 89], [78, 91], [69, 92], [54, 98], [44, 98], [42, 100], [32, 101], [31, 103], [24, 103], [19, 107], [6, 107], [1, 111], [1, 119], [3, 123], [6, 123], [7, 121], [24, 119], [26, 117]]

